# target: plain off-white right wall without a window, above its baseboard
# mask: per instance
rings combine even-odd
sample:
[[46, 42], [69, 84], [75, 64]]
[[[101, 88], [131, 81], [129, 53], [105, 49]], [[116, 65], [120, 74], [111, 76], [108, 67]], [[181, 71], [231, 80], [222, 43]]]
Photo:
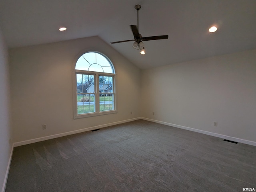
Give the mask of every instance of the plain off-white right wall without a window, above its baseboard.
[[256, 50], [143, 70], [141, 101], [142, 117], [255, 142]]

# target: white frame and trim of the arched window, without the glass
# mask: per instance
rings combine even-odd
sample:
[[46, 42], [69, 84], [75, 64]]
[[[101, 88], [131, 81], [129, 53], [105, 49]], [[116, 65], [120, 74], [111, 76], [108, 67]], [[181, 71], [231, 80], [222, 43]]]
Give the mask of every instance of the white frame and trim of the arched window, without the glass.
[[[99, 53], [97, 51], [90, 51], [90, 52]], [[103, 55], [102, 53], [100, 53], [100, 54]], [[103, 55], [103, 56], [106, 57], [105, 55]], [[106, 59], [108, 59], [108, 58], [106, 57]], [[109, 61], [109, 59], [108, 59], [108, 61]], [[75, 65], [76, 65], [76, 62], [75, 62]], [[104, 73], [104, 72], [76, 70], [75, 69], [75, 65], [74, 65], [74, 69], [72, 71], [72, 81], [73, 81], [73, 114], [74, 114], [74, 119], [117, 113], [117, 104], [116, 104], [116, 77], [117, 77], [117, 75], [115, 73]], [[112, 65], [112, 63], [111, 63], [111, 65]], [[112, 67], [113, 67], [113, 65], [112, 65]], [[78, 114], [77, 113], [77, 79], [76, 79], [76, 74], [94, 75], [94, 77], [95, 77], [94, 78], [95, 112], [86, 113], [86, 114]], [[113, 98], [114, 98], [113, 99], [113, 105], [114, 105], [114, 109], [113, 110], [108, 110], [108, 111], [100, 112], [99, 76], [111, 76], [111, 77], [113, 77], [113, 85], [112, 85], [112, 93], [111, 93], [111, 94], [113, 94]]]

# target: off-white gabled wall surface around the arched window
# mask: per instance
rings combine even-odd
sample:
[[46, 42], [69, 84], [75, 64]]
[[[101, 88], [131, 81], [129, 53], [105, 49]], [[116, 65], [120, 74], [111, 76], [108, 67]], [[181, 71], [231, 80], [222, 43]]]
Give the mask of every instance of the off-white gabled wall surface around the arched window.
[[[73, 119], [72, 67], [83, 50], [99, 51], [112, 61], [117, 114]], [[139, 117], [140, 69], [99, 37], [10, 49], [9, 54], [14, 142]]]

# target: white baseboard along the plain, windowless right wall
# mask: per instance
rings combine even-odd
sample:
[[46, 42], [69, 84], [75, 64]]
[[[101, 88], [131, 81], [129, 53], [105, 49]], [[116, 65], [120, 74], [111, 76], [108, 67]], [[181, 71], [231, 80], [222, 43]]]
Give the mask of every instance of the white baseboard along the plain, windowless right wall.
[[214, 137], [220, 137], [222, 139], [227, 139], [227, 140], [230, 140], [230, 141], [236, 141], [238, 143], [244, 143], [244, 144], [256, 146], [255, 141], [248, 141], [248, 140], [245, 140], [245, 139], [239, 139], [239, 138], [236, 138], [236, 137], [230, 137], [230, 136], [227, 136], [227, 135], [221, 135], [221, 134], [218, 134], [218, 133], [212, 133], [212, 132], [209, 132], [209, 131], [203, 131], [203, 130], [200, 130], [200, 129], [185, 127], [185, 126], [182, 126], [182, 125], [166, 123], [164, 121], [152, 120], [152, 119], [148, 119], [148, 118], [141, 118], [141, 119], [146, 120], [146, 121], [152, 121], [152, 122], [155, 122], [155, 123], [160, 123], [160, 124], [163, 124], [163, 125], [169, 125], [169, 126], [172, 126], [172, 127], [177, 127], [177, 128], [180, 128], [180, 129], [186, 129], [186, 130], [189, 130], [189, 131], [194, 131], [194, 132], [197, 132], [197, 133], [203, 133], [203, 134], [211, 135], [211, 136], [214, 136]]

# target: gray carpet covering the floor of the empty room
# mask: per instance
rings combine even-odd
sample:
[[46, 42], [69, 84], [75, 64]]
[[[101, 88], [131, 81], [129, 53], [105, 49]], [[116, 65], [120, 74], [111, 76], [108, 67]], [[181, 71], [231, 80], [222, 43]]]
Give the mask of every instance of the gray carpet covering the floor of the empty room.
[[138, 120], [15, 147], [6, 192], [243, 191], [256, 147]]

